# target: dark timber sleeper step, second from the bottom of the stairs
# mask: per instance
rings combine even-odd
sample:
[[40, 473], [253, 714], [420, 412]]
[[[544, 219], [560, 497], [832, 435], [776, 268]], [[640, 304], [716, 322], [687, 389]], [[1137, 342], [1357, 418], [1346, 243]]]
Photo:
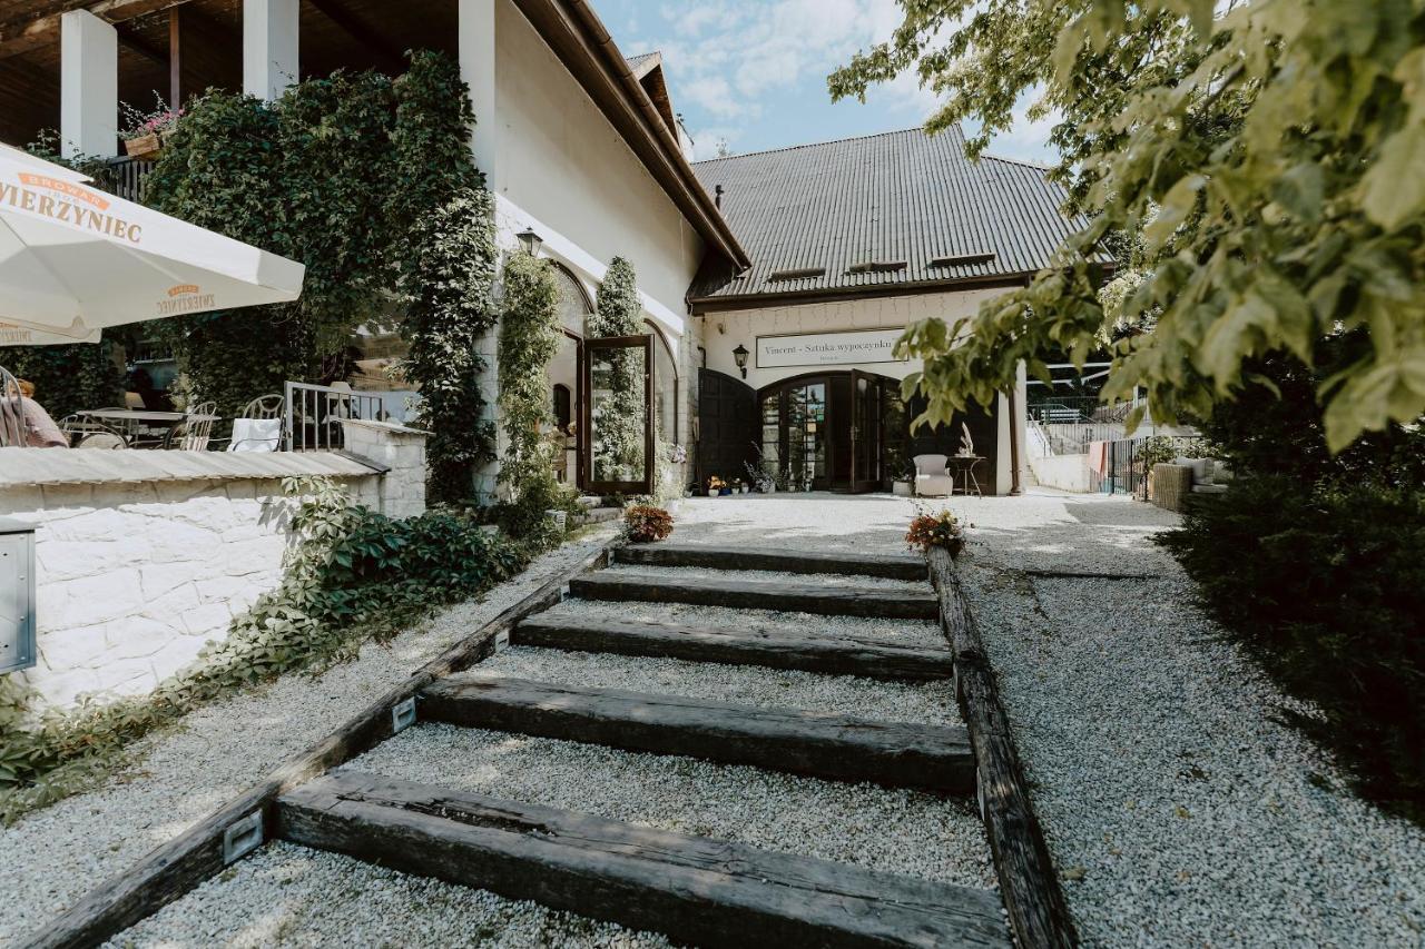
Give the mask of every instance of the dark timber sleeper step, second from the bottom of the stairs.
[[836, 781], [968, 795], [963, 728], [473, 674], [432, 683], [420, 718]]

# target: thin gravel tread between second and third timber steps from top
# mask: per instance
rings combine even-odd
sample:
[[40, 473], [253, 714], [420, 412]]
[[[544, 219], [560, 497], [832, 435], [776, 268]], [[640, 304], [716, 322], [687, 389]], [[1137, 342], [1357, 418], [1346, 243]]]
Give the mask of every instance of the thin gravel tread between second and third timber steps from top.
[[616, 603], [604, 600], [564, 600], [546, 616], [577, 616], [584, 618], [623, 620], [636, 623], [687, 623], [712, 628], [735, 628], [792, 633], [815, 631], [822, 636], [856, 636], [888, 640], [906, 645], [945, 647], [940, 627], [925, 620], [886, 620], [859, 616], [815, 616], [811, 613], [778, 613], [775, 610], [734, 610], [683, 603]]

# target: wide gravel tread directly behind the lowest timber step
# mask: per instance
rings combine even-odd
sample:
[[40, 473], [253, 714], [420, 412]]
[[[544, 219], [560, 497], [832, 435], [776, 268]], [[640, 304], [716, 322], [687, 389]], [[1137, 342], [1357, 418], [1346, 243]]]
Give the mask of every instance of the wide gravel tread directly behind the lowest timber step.
[[343, 765], [938, 879], [993, 886], [969, 801], [455, 725], [418, 725]]

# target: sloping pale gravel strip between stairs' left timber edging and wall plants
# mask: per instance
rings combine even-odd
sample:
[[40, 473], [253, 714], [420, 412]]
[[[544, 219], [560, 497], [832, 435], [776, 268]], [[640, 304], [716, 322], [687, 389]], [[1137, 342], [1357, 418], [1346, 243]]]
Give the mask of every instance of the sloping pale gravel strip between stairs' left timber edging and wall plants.
[[184, 718], [140, 742], [138, 761], [101, 788], [0, 829], [0, 946], [182, 834], [284, 759], [339, 727], [455, 641], [606, 543], [611, 530], [546, 554], [480, 603], [445, 610], [425, 628], [312, 678], [288, 675]]

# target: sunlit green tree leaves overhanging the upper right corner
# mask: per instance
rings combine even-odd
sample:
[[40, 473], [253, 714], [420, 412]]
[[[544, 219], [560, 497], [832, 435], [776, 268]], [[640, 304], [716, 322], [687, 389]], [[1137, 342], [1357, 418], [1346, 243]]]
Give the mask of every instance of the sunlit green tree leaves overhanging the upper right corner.
[[[1404, 0], [901, 0], [892, 40], [832, 74], [834, 97], [915, 70], [938, 130], [980, 123], [979, 152], [1057, 113], [1053, 172], [1089, 215], [1023, 289], [902, 339], [908, 380], [945, 422], [969, 399], [1083, 362], [1107, 321], [1153, 312], [1113, 343], [1106, 399], [1146, 389], [1153, 416], [1207, 416], [1253, 358], [1315, 365], [1331, 450], [1425, 410], [1425, 10]], [[1127, 235], [1141, 281], [1104, 312], [1104, 239]], [[958, 343], [952, 348], [952, 342]]]

